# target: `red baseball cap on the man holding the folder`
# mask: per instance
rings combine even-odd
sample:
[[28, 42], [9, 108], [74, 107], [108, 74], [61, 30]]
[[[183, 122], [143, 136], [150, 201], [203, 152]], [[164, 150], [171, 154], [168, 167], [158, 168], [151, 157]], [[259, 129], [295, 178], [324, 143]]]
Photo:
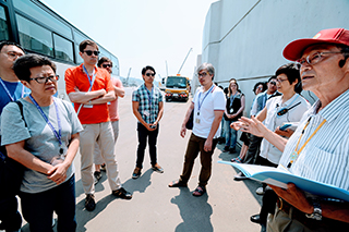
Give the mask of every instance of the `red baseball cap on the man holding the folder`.
[[302, 57], [305, 48], [316, 44], [340, 44], [349, 46], [349, 30], [345, 28], [323, 29], [313, 38], [297, 39], [284, 49], [284, 57], [296, 61]]

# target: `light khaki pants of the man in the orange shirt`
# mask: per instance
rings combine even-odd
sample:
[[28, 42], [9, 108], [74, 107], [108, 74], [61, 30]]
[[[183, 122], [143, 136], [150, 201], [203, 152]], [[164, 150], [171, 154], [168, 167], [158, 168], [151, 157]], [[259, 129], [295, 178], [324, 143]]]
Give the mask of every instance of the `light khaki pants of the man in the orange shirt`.
[[115, 156], [113, 132], [110, 122], [97, 124], [83, 124], [84, 131], [80, 133], [80, 152], [81, 152], [81, 180], [85, 194], [94, 194], [94, 150], [98, 143], [100, 155], [106, 162], [107, 176], [111, 191], [121, 187], [118, 163]]

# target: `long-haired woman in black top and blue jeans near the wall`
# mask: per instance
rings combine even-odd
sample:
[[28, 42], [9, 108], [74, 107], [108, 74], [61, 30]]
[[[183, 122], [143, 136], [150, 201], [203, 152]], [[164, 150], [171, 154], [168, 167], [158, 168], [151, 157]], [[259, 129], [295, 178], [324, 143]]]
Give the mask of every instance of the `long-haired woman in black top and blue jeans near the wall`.
[[226, 134], [225, 151], [229, 151], [230, 154], [236, 152], [237, 145], [237, 131], [230, 127], [230, 124], [242, 117], [243, 110], [244, 95], [239, 91], [237, 80], [231, 78], [229, 81], [227, 105], [224, 114]]

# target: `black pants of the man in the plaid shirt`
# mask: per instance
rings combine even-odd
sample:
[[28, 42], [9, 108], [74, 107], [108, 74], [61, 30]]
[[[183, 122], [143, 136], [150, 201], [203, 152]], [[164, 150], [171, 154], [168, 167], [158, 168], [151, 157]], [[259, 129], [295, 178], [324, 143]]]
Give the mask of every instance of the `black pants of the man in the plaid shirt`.
[[143, 168], [143, 160], [144, 160], [144, 152], [146, 147], [146, 139], [148, 138], [148, 146], [149, 146], [149, 155], [151, 155], [151, 163], [155, 166], [156, 160], [156, 142], [157, 135], [159, 133], [159, 124], [155, 131], [148, 131], [142, 123], [137, 123], [137, 131], [139, 131], [139, 148], [137, 148], [137, 160], [136, 167]]

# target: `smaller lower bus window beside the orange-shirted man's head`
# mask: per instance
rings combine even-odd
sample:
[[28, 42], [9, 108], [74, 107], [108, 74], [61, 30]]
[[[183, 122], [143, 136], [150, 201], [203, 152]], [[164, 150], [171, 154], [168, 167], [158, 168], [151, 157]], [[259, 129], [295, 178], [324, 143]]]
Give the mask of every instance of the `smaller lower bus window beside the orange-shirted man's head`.
[[53, 34], [55, 57], [69, 62], [74, 62], [73, 45], [71, 41]]

